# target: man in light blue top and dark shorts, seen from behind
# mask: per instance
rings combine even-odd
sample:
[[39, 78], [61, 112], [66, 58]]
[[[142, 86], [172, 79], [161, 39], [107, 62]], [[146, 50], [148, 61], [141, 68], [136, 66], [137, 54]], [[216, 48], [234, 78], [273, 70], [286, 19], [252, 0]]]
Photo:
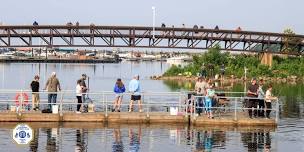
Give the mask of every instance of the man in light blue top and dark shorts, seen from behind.
[[138, 109], [139, 112], [142, 112], [141, 107], [141, 95], [140, 95], [140, 83], [139, 83], [139, 75], [135, 75], [133, 79], [129, 83], [129, 92], [131, 93], [131, 101], [129, 106], [129, 112], [133, 110], [133, 102], [138, 101]]

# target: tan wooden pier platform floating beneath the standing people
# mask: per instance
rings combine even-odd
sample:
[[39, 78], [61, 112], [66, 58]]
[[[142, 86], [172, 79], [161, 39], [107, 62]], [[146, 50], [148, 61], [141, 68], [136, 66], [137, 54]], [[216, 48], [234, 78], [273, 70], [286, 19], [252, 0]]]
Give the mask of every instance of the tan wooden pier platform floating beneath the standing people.
[[1, 112], [0, 122], [100, 122], [100, 123], [125, 123], [125, 124], [192, 124], [201, 125], [226, 125], [226, 126], [276, 126], [276, 121], [265, 118], [250, 119], [245, 112], [237, 113], [237, 119], [231, 113], [215, 116], [170, 115], [168, 112], [116, 112], [116, 113], [81, 113], [63, 112], [62, 114], [48, 114], [41, 112]]

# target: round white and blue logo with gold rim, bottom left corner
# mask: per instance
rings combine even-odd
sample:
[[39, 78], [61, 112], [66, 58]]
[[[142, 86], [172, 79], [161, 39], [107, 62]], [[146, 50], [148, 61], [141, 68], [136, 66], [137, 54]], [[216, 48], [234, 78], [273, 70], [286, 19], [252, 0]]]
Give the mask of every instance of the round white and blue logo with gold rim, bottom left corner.
[[26, 145], [33, 139], [33, 130], [27, 124], [18, 124], [13, 130], [13, 139], [19, 145]]

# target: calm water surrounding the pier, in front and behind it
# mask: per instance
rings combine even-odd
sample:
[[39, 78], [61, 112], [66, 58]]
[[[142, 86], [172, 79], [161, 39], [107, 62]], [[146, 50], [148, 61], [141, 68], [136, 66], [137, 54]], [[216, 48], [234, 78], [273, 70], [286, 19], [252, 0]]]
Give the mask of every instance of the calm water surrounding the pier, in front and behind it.
[[[44, 84], [55, 71], [62, 88], [74, 89], [82, 73], [90, 76], [90, 88], [110, 91], [116, 78], [126, 83], [140, 74], [144, 91], [179, 91], [193, 83], [154, 81], [169, 67], [161, 62], [120, 64], [0, 64], [1, 89], [29, 89], [35, 74]], [[242, 91], [242, 84], [227, 84], [228, 90]], [[227, 87], [227, 85], [225, 85]], [[280, 122], [277, 128], [234, 128], [184, 125], [106, 125], [94, 123], [30, 123], [35, 140], [17, 146], [12, 137], [15, 123], [0, 123], [1, 151], [304, 151], [304, 85], [277, 84], [280, 95]]]

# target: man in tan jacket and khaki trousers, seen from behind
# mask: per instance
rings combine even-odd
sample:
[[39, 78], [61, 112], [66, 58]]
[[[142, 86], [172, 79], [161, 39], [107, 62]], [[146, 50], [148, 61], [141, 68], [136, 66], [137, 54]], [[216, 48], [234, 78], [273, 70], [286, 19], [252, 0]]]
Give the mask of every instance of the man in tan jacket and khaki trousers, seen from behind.
[[53, 72], [51, 77], [47, 80], [44, 90], [49, 92], [48, 94], [48, 106], [51, 109], [52, 104], [56, 103], [57, 90], [61, 91], [59, 80], [56, 77], [56, 72]]

